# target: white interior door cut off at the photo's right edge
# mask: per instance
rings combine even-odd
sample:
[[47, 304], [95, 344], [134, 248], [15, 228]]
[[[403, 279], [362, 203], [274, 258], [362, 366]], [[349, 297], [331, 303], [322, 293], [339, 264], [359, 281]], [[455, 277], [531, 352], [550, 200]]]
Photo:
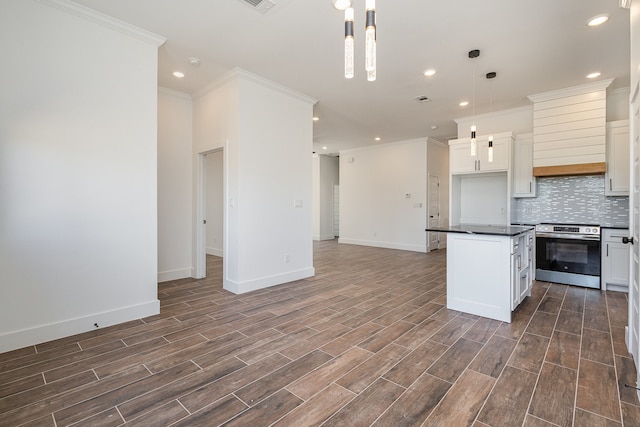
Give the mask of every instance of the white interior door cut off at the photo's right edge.
[[636, 86], [631, 101], [631, 168], [629, 192], [629, 230], [633, 236], [629, 271], [629, 326], [627, 328], [627, 346], [633, 356], [636, 367], [640, 354], [640, 100]]

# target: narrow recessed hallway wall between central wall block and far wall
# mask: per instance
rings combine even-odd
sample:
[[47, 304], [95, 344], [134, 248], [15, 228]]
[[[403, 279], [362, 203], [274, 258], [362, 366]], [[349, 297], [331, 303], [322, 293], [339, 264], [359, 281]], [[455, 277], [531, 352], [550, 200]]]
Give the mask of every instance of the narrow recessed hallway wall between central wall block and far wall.
[[340, 184], [339, 159], [313, 156], [313, 240], [331, 240], [334, 236], [334, 185]]

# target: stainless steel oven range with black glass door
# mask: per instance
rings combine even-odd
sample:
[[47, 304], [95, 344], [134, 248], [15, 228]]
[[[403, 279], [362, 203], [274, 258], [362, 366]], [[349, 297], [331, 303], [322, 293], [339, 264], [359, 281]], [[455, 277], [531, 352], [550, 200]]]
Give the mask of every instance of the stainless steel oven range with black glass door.
[[538, 224], [536, 280], [600, 289], [600, 226]]

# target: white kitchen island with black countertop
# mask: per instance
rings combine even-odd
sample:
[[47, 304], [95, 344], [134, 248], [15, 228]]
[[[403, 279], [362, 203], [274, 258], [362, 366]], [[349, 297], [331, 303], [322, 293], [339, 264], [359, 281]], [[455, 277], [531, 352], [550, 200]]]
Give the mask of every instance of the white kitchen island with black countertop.
[[503, 322], [531, 295], [533, 227], [455, 225], [447, 233], [447, 308]]

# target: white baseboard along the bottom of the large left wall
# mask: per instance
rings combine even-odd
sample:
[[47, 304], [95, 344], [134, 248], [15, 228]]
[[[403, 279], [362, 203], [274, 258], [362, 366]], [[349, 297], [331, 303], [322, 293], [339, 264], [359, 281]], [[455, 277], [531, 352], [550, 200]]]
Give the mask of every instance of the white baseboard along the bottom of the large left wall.
[[[69, 337], [97, 328], [117, 325], [130, 320], [142, 319], [160, 313], [160, 301], [152, 300], [143, 304], [123, 307], [117, 310], [90, 314], [60, 322], [39, 325], [20, 331], [0, 335], [0, 353], [42, 344], [47, 341]], [[97, 327], [95, 325], [98, 325]]]

